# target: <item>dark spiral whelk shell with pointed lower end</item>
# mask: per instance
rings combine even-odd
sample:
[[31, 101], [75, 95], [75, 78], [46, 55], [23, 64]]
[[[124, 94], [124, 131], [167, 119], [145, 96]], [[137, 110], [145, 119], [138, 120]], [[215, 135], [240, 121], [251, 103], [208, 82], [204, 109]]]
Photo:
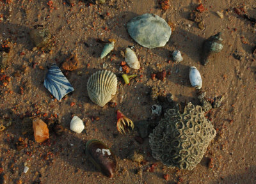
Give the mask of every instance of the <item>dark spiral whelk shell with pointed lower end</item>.
[[221, 44], [223, 38], [221, 38], [221, 36], [222, 33], [220, 32], [204, 41], [202, 49], [202, 65], [207, 65], [212, 54], [220, 52], [223, 49], [223, 44]]

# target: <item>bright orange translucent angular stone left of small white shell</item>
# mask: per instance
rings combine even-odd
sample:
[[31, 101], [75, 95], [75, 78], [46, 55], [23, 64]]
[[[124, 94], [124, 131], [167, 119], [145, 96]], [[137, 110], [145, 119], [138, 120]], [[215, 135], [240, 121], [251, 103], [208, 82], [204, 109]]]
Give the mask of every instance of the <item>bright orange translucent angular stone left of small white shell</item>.
[[49, 129], [40, 118], [33, 119], [33, 130], [36, 142], [44, 142], [49, 139]]

